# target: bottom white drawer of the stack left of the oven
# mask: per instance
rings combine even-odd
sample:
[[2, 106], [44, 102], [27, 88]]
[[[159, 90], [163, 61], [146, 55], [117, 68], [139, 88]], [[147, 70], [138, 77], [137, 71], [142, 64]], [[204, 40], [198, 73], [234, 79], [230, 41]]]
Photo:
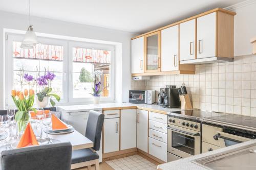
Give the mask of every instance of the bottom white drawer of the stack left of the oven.
[[167, 162], [167, 144], [159, 140], [148, 138], [148, 153]]

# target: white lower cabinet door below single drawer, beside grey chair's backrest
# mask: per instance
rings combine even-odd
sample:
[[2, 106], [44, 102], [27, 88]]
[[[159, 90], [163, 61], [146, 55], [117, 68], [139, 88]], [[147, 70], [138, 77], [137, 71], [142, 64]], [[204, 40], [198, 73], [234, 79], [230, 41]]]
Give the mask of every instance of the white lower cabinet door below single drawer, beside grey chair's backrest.
[[119, 151], [119, 118], [104, 119], [104, 151]]

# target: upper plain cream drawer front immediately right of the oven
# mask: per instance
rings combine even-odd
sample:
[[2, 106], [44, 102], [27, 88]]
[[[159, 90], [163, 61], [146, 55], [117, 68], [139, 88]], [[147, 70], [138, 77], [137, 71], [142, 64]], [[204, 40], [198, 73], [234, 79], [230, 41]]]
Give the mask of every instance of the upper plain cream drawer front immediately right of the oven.
[[202, 141], [214, 144], [220, 147], [219, 140], [214, 139], [214, 135], [217, 134], [217, 131], [222, 132], [222, 128], [202, 125]]

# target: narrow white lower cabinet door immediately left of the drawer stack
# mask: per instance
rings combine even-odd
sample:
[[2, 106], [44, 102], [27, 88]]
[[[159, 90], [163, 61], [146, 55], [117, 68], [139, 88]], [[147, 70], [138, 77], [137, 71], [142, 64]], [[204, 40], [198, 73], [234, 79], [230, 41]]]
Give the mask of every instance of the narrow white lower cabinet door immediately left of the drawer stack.
[[137, 148], [147, 153], [148, 113], [137, 109]]

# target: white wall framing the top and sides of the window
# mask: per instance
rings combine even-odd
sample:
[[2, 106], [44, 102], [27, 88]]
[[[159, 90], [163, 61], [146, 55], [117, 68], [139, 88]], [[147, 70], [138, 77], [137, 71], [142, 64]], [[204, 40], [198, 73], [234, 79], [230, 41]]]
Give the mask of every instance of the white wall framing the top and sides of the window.
[[[118, 67], [116, 84], [119, 87], [116, 91], [116, 99], [118, 102], [127, 102], [128, 91], [131, 87], [131, 37], [135, 34], [39, 17], [32, 17], [31, 23], [38, 33], [118, 42], [115, 57]], [[4, 107], [4, 29], [26, 30], [27, 16], [0, 11], [0, 109]]]

